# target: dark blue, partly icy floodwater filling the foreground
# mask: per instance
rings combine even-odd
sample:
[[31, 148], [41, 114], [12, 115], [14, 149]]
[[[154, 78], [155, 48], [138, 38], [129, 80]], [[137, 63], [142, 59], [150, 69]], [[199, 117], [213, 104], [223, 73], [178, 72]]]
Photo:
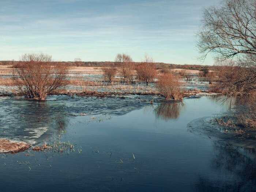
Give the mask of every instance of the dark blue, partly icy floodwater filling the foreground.
[[0, 191], [256, 190], [254, 147], [198, 131], [229, 105], [151, 99], [0, 98], [0, 138], [41, 145], [57, 136], [76, 149], [0, 155]]

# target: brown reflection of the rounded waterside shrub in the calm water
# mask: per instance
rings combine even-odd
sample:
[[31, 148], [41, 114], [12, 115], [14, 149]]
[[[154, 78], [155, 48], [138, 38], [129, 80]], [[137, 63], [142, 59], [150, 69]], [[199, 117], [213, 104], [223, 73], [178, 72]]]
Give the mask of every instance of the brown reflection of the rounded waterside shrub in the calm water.
[[182, 110], [185, 109], [185, 104], [183, 102], [169, 102], [161, 103], [154, 109], [157, 118], [162, 118], [163, 120], [176, 119], [180, 116]]

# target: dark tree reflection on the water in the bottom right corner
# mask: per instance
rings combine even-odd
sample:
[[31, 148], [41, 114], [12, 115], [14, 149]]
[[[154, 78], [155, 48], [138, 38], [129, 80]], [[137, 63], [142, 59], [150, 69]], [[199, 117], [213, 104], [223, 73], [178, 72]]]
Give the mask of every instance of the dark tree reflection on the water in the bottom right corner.
[[255, 191], [255, 150], [214, 143], [216, 156], [212, 159], [210, 176], [199, 176], [196, 191]]

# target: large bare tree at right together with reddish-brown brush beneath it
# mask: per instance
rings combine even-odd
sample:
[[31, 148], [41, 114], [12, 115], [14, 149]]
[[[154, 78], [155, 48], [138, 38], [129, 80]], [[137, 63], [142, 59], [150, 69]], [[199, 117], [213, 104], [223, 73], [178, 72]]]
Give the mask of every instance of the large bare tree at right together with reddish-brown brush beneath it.
[[[223, 0], [204, 10], [197, 48], [221, 63], [219, 85], [230, 94], [256, 89], [256, 0]], [[233, 59], [234, 62], [222, 62]], [[228, 63], [228, 64], [227, 64]]]

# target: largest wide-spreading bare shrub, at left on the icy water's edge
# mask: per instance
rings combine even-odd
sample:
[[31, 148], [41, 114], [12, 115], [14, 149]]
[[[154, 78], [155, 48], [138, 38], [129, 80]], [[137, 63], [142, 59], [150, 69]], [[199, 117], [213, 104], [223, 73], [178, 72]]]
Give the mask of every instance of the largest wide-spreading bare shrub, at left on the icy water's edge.
[[12, 80], [27, 99], [45, 100], [54, 90], [67, 84], [67, 71], [60, 63], [51, 66], [52, 56], [25, 53], [20, 67], [14, 69]]

